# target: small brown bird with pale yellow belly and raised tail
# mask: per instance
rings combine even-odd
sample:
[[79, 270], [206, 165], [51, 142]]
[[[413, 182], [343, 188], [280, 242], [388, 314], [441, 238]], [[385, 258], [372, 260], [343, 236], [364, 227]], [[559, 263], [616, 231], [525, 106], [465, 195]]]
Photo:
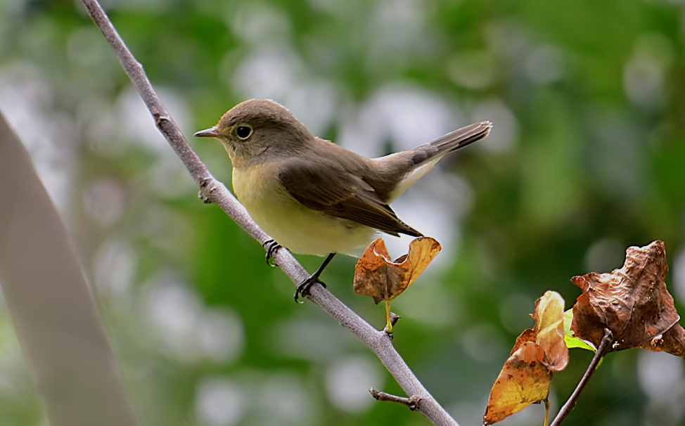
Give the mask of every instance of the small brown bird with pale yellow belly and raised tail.
[[[297, 286], [305, 294], [335, 253], [354, 255], [378, 231], [423, 236], [399, 220], [389, 204], [444, 155], [485, 138], [490, 122], [470, 124], [411, 150], [366, 158], [317, 138], [274, 101], [250, 99], [195, 136], [221, 141], [233, 164], [233, 192], [275, 243], [326, 256]], [[323, 284], [323, 283], [322, 283]]]

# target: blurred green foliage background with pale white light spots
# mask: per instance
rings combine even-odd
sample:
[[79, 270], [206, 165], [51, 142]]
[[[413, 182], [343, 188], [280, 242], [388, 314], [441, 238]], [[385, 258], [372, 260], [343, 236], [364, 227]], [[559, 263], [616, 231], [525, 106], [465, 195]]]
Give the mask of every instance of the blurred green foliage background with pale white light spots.
[[[546, 290], [665, 240], [685, 309], [685, 2], [104, 2], [188, 137], [246, 98], [369, 156], [476, 120], [393, 207], [444, 250], [392, 305], [395, 344], [461, 425]], [[371, 352], [313, 304], [198, 188], [75, 1], [0, 3], [0, 110], [23, 138], [87, 270], [142, 425], [428, 425]], [[227, 185], [214, 141], [191, 140]], [[11, 200], [0, 200], [11, 202]], [[391, 254], [409, 240], [388, 237]], [[321, 259], [300, 257], [309, 269]], [[324, 273], [352, 292], [354, 259]], [[590, 359], [554, 376], [553, 411]], [[611, 354], [566, 425], [685, 425], [681, 359]], [[0, 423], [44, 425], [5, 306]], [[533, 406], [503, 425], [540, 425]]]

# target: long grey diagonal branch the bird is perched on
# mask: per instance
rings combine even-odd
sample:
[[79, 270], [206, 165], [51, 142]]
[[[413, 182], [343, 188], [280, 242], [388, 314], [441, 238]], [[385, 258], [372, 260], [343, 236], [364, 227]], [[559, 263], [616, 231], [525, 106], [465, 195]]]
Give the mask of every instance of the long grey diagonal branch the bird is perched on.
[[[100, 4], [96, 0], [81, 1], [91, 15], [91, 18], [93, 18], [96, 25], [103, 32], [105, 39], [112, 46], [122, 67], [124, 67], [127, 75], [129, 75], [134, 86], [136, 86], [148, 109], [152, 112], [157, 127], [167, 138], [167, 141], [169, 141], [177, 155], [179, 155], [188, 172], [193, 176], [193, 179], [198, 183], [200, 191], [202, 191], [205, 198], [219, 205], [226, 214], [263, 246], [271, 237], [262, 231], [262, 228], [257, 226], [255, 221], [252, 221], [245, 207], [233, 197], [223, 183], [217, 181], [210, 174], [205, 164], [193, 152], [181, 130], [174, 123], [171, 115], [169, 115], [162, 101], [160, 101], [160, 98], [155, 93], [142, 65], [127, 49], [127, 46], [102, 10]], [[301, 283], [302, 280], [309, 277], [307, 271], [288, 250], [277, 250], [274, 253], [274, 259], [276, 259], [277, 264], [279, 264], [288, 277], [293, 280], [293, 283]], [[425, 415], [434, 425], [459, 426], [447, 411], [435, 401], [433, 396], [428, 393], [414, 373], [411, 372], [402, 356], [399, 356], [395, 347], [392, 346], [392, 340], [387, 333], [373, 328], [352, 309], [340, 302], [331, 292], [321, 287], [321, 285], [314, 285], [307, 299], [320, 306], [321, 309], [328, 312], [341, 325], [351, 330], [354, 335], [357, 335], [378, 356], [378, 359], [385, 365], [385, 368], [388, 368], [388, 371], [395, 377], [395, 380], [397, 380], [397, 383], [404, 392], [408, 395], [416, 395], [417, 398], [421, 399], [422, 403], [418, 411]]]

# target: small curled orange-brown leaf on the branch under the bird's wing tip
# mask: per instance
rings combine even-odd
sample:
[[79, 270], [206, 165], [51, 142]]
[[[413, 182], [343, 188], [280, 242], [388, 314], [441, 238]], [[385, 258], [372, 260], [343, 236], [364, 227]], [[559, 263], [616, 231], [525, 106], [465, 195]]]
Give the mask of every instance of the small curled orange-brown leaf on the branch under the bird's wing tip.
[[399, 296], [440, 252], [434, 238], [419, 237], [409, 244], [409, 253], [392, 262], [383, 238], [373, 240], [354, 269], [354, 291], [378, 303]]

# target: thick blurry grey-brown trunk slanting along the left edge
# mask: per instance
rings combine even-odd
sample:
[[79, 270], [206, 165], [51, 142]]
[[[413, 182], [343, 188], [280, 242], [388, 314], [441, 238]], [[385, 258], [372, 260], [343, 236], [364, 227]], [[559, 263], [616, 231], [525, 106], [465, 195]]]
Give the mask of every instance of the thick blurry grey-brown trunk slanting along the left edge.
[[137, 425], [67, 231], [1, 114], [0, 283], [50, 425]]

